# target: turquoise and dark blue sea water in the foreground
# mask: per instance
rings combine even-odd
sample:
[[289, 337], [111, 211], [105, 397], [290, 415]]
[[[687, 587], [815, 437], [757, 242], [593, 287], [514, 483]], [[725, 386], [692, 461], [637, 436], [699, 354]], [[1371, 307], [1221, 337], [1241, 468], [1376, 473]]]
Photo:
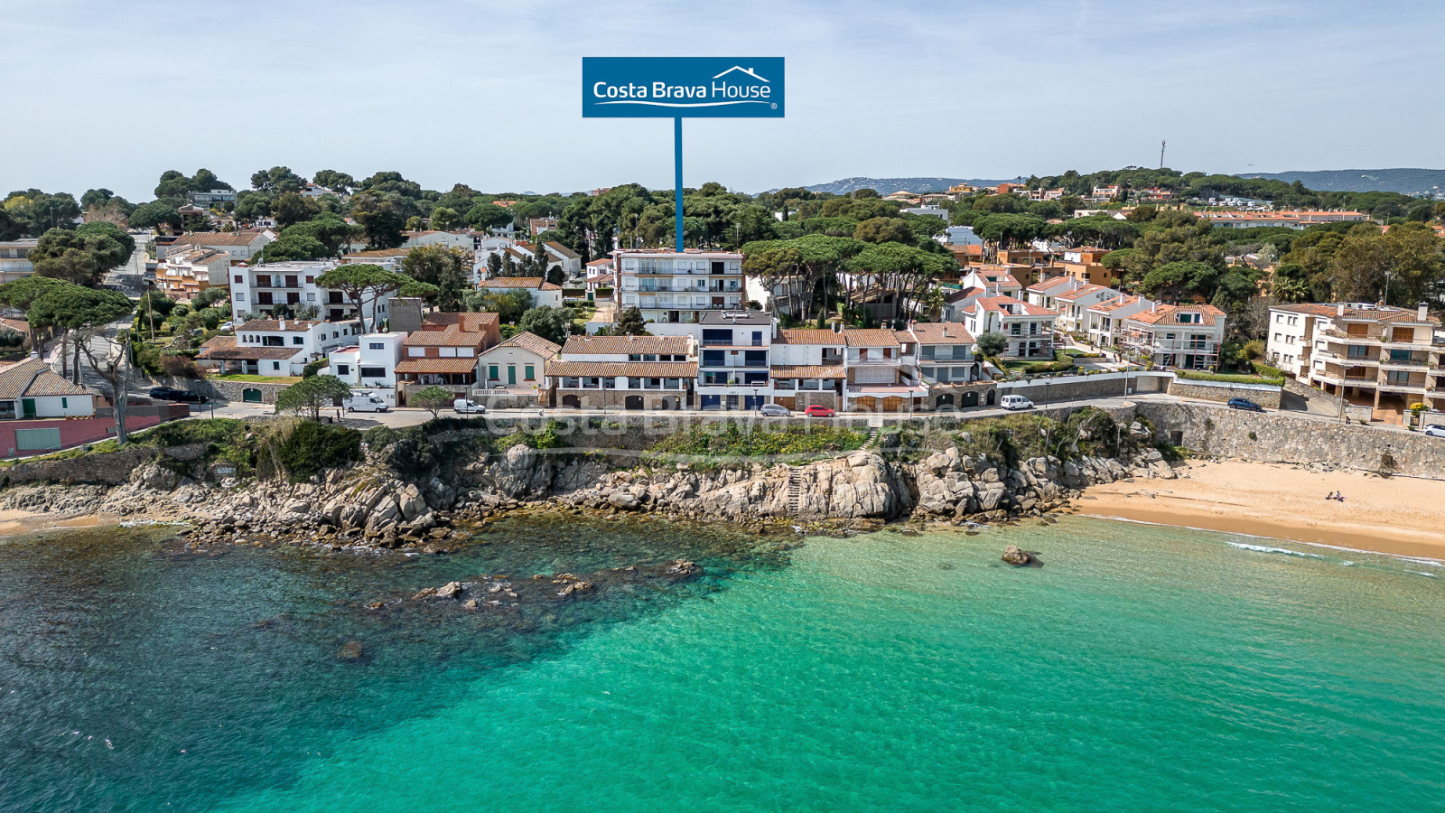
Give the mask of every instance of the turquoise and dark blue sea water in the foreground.
[[[1445, 810], [1431, 563], [1081, 518], [0, 556], [0, 810]], [[506, 622], [364, 608], [678, 556], [707, 577]]]

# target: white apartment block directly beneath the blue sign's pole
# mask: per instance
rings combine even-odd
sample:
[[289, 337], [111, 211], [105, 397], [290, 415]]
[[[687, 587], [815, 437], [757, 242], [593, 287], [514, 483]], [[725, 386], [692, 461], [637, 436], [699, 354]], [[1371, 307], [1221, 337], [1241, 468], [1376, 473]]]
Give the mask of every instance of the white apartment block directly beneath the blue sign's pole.
[[617, 312], [637, 307], [655, 323], [696, 321], [707, 311], [743, 310], [743, 255], [733, 252], [618, 250]]

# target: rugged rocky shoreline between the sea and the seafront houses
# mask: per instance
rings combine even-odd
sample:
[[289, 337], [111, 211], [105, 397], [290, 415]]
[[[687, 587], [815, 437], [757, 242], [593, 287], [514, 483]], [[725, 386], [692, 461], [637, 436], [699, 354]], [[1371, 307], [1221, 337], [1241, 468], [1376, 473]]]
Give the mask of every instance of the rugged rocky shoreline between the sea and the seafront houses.
[[0, 508], [184, 522], [179, 534], [197, 545], [301, 542], [447, 553], [488, 521], [523, 508], [614, 516], [646, 512], [759, 532], [876, 529], [894, 521], [1042, 518], [1095, 483], [1175, 477], [1152, 447], [1121, 459], [1030, 457], [1012, 466], [948, 447], [913, 460], [854, 451], [802, 464], [620, 467], [595, 454], [516, 444], [454, 461], [420, 480], [400, 477], [384, 460], [370, 457], [303, 483], [211, 482], [168, 463], [142, 463], [118, 486], [12, 486], [0, 492]]

